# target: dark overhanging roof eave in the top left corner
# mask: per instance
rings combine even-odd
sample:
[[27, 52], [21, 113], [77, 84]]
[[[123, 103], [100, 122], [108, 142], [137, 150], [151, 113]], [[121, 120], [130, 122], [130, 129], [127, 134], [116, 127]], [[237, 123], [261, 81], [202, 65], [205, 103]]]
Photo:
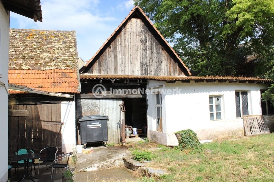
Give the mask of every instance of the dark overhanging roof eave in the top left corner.
[[6, 10], [42, 22], [40, 0], [2, 0]]

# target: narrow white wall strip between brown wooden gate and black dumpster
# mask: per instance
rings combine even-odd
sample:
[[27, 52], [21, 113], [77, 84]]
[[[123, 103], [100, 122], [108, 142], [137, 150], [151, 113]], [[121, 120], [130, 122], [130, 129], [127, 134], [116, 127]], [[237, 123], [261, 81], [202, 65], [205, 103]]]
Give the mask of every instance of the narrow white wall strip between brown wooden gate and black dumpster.
[[62, 126], [62, 152], [72, 152], [75, 147], [75, 102], [61, 102], [61, 119], [64, 123]]

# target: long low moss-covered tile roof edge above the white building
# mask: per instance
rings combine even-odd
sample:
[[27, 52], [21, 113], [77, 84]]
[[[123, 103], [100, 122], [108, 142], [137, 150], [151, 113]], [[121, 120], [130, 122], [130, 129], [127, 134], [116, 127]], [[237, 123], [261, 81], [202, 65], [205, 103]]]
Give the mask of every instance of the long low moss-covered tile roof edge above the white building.
[[272, 80], [262, 79], [262, 78], [253, 78], [253, 77], [232, 77], [232, 76], [189, 76], [189, 77], [178, 77], [178, 76], [139, 76], [139, 75], [93, 75], [93, 74], [80, 74], [81, 80], [98, 80], [98, 79], [149, 79], [149, 80], [158, 80], [158, 81], [228, 81], [228, 82], [237, 82], [237, 81], [250, 81], [250, 82], [265, 82], [269, 83]]

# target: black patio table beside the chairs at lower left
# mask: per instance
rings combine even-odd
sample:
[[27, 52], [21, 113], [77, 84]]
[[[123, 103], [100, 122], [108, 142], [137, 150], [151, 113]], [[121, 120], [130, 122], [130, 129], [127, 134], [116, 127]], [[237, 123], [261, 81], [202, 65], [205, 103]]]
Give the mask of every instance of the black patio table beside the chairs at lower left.
[[[37, 177], [34, 177], [34, 176], [30, 175], [30, 173], [29, 173], [29, 159], [38, 159], [38, 158], [40, 158], [40, 153], [21, 154], [21, 155], [14, 155], [12, 157], [12, 159], [11, 159], [12, 162], [24, 160], [24, 176], [23, 176], [23, 179], [21, 179], [20, 181], [23, 181], [25, 179], [26, 172], [27, 172], [29, 175], [29, 179], [31, 179], [33, 182], [35, 182], [33, 179], [37, 179]], [[26, 165], [27, 165], [27, 167], [26, 167]]]

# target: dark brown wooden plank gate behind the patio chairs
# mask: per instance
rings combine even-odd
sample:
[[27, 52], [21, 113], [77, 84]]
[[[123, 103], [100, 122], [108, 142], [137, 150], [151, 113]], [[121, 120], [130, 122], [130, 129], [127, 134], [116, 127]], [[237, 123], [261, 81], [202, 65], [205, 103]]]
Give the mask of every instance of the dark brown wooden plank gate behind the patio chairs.
[[23, 148], [61, 148], [61, 128], [60, 103], [9, 105], [9, 154]]

